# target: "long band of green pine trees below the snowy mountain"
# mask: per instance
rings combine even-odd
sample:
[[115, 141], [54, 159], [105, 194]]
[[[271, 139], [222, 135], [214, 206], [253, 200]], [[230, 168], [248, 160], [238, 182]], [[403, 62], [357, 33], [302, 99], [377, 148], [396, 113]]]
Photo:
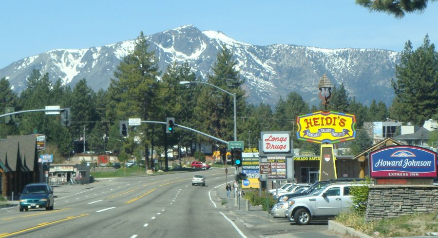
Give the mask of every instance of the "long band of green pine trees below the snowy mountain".
[[[140, 33], [134, 50], [119, 64], [106, 91], [94, 92], [86, 79], [80, 80], [72, 89], [63, 86], [60, 79], [52, 83], [47, 73], [41, 75], [34, 70], [26, 79], [27, 88], [17, 95], [7, 79], [0, 79], [0, 112], [4, 112], [5, 107], [15, 107], [15, 111], [44, 109], [47, 105], [71, 108], [70, 127], [61, 126], [58, 115], [23, 113], [16, 115], [13, 124], [0, 124], [0, 138], [45, 134], [47, 149], [44, 153], [66, 158], [73, 150], [73, 140], [84, 139], [85, 135], [87, 149], [91, 151], [116, 151], [121, 160], [129, 156], [146, 157], [147, 165], [151, 159], [149, 151], [161, 153], [177, 144], [190, 147], [193, 142], [205, 142], [217, 144], [225, 151], [225, 145], [182, 128], [167, 134], [166, 126], [158, 123], [129, 127], [129, 137], [124, 138], [119, 133], [119, 121], [140, 118], [164, 122], [167, 117], [173, 117], [176, 124], [226, 141], [234, 140], [231, 95], [235, 94], [237, 140], [244, 140], [245, 147], [257, 147], [261, 131], [291, 131], [294, 148], [319, 151], [318, 144], [296, 140], [296, 117], [323, 110], [323, 106], [309, 107], [296, 92], [280, 98], [274, 108], [264, 103], [249, 104], [241, 87], [245, 79], [235, 69], [237, 62], [225, 45], [206, 80], [196, 78], [187, 62], [181, 65], [173, 62], [164, 73], [158, 71], [157, 59], [148, 52], [148, 46], [145, 36]], [[343, 84], [333, 89], [328, 109], [356, 115], [358, 136], [352, 145], [355, 151], [372, 143], [366, 133], [361, 132], [365, 121], [390, 118], [420, 125], [424, 119], [438, 118], [438, 57], [428, 36], [415, 51], [410, 41], [406, 43], [396, 71], [398, 80], [393, 80], [396, 99], [390, 108], [376, 100], [369, 107], [363, 105], [348, 96]], [[204, 83], [180, 84], [180, 81], [207, 82], [228, 93]], [[373, 98], [373, 95], [369, 97]]]

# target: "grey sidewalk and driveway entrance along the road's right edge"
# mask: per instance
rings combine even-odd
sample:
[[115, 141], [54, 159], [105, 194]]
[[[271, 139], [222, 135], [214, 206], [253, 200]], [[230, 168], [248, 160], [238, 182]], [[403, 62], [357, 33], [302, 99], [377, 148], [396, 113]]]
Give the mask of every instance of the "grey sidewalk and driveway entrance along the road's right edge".
[[337, 231], [328, 230], [328, 226], [299, 226], [291, 224], [286, 218], [273, 218], [267, 211], [262, 210], [262, 206], [253, 206], [249, 204], [247, 211], [246, 199], [240, 198], [239, 206], [234, 205], [232, 191], [230, 198], [227, 197], [225, 185], [215, 190], [216, 201], [219, 206], [222, 201], [226, 201], [222, 208], [226, 210], [227, 215], [233, 216], [237, 226], [245, 226], [254, 236], [260, 238], [352, 238], [349, 235], [343, 235]]

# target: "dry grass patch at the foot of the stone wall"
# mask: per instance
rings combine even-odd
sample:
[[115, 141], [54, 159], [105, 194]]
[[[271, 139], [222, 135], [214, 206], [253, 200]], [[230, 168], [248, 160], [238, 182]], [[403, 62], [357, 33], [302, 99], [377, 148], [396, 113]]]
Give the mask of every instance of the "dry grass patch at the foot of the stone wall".
[[365, 222], [363, 215], [355, 212], [342, 212], [336, 221], [347, 227], [373, 237], [413, 237], [438, 231], [437, 214], [412, 214], [398, 218], [386, 218]]

